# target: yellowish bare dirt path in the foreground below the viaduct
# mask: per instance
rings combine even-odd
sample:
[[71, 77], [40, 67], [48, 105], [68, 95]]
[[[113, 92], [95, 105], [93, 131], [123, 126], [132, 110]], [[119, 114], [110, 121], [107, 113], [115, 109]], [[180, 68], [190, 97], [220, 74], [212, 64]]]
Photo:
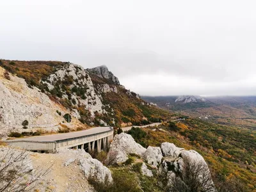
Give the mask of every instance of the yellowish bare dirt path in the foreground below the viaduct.
[[33, 153], [31, 159], [34, 168], [47, 170], [53, 165], [51, 171], [36, 186], [36, 191], [92, 191], [76, 161], [68, 166], [63, 165], [70, 157], [60, 154]]

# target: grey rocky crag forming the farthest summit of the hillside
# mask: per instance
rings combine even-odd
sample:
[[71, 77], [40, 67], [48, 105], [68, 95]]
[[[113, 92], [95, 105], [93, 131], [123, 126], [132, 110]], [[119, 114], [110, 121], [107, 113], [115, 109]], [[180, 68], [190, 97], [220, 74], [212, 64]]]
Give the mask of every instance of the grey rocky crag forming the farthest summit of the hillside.
[[88, 72], [95, 74], [96, 76], [104, 79], [110, 79], [115, 84], [120, 84], [118, 78], [113, 75], [112, 72], [108, 70], [108, 67], [105, 65], [95, 67], [95, 68], [88, 68]]

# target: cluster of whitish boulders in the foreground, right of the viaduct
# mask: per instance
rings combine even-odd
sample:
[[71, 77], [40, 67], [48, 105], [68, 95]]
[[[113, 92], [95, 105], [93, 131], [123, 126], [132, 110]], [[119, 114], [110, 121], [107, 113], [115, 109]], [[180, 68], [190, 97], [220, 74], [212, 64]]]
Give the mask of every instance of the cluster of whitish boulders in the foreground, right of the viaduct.
[[[116, 135], [109, 148], [107, 163], [122, 165], [127, 162], [129, 156], [143, 159], [143, 175], [165, 177], [168, 191], [177, 189], [177, 183], [189, 189], [191, 186], [188, 182], [195, 182], [205, 191], [216, 191], [207, 163], [195, 150], [185, 150], [173, 143], [162, 143], [161, 147], [149, 146], [146, 149], [136, 143], [129, 134]], [[156, 170], [156, 175], [152, 173], [152, 169]], [[190, 177], [193, 179], [189, 180]]]

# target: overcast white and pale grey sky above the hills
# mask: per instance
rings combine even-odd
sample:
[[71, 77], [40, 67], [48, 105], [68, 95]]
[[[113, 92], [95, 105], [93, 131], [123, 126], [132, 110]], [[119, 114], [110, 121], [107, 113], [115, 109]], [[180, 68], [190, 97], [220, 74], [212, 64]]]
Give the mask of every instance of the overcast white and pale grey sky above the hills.
[[140, 95], [256, 95], [255, 1], [0, 1], [0, 58], [106, 65]]

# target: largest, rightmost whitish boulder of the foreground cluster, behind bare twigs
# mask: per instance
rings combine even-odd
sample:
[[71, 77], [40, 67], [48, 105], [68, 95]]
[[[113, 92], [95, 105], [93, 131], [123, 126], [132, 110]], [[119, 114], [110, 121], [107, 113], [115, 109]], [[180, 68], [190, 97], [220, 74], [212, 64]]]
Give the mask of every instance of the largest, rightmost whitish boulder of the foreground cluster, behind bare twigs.
[[186, 185], [186, 180], [184, 181], [182, 178], [193, 178], [189, 182], [197, 182], [207, 191], [216, 191], [207, 163], [198, 152], [184, 150], [184, 148], [176, 147], [173, 143], [162, 143], [161, 149], [164, 159], [159, 167], [159, 172], [167, 173], [168, 185], [172, 186], [173, 182], [183, 182]]

